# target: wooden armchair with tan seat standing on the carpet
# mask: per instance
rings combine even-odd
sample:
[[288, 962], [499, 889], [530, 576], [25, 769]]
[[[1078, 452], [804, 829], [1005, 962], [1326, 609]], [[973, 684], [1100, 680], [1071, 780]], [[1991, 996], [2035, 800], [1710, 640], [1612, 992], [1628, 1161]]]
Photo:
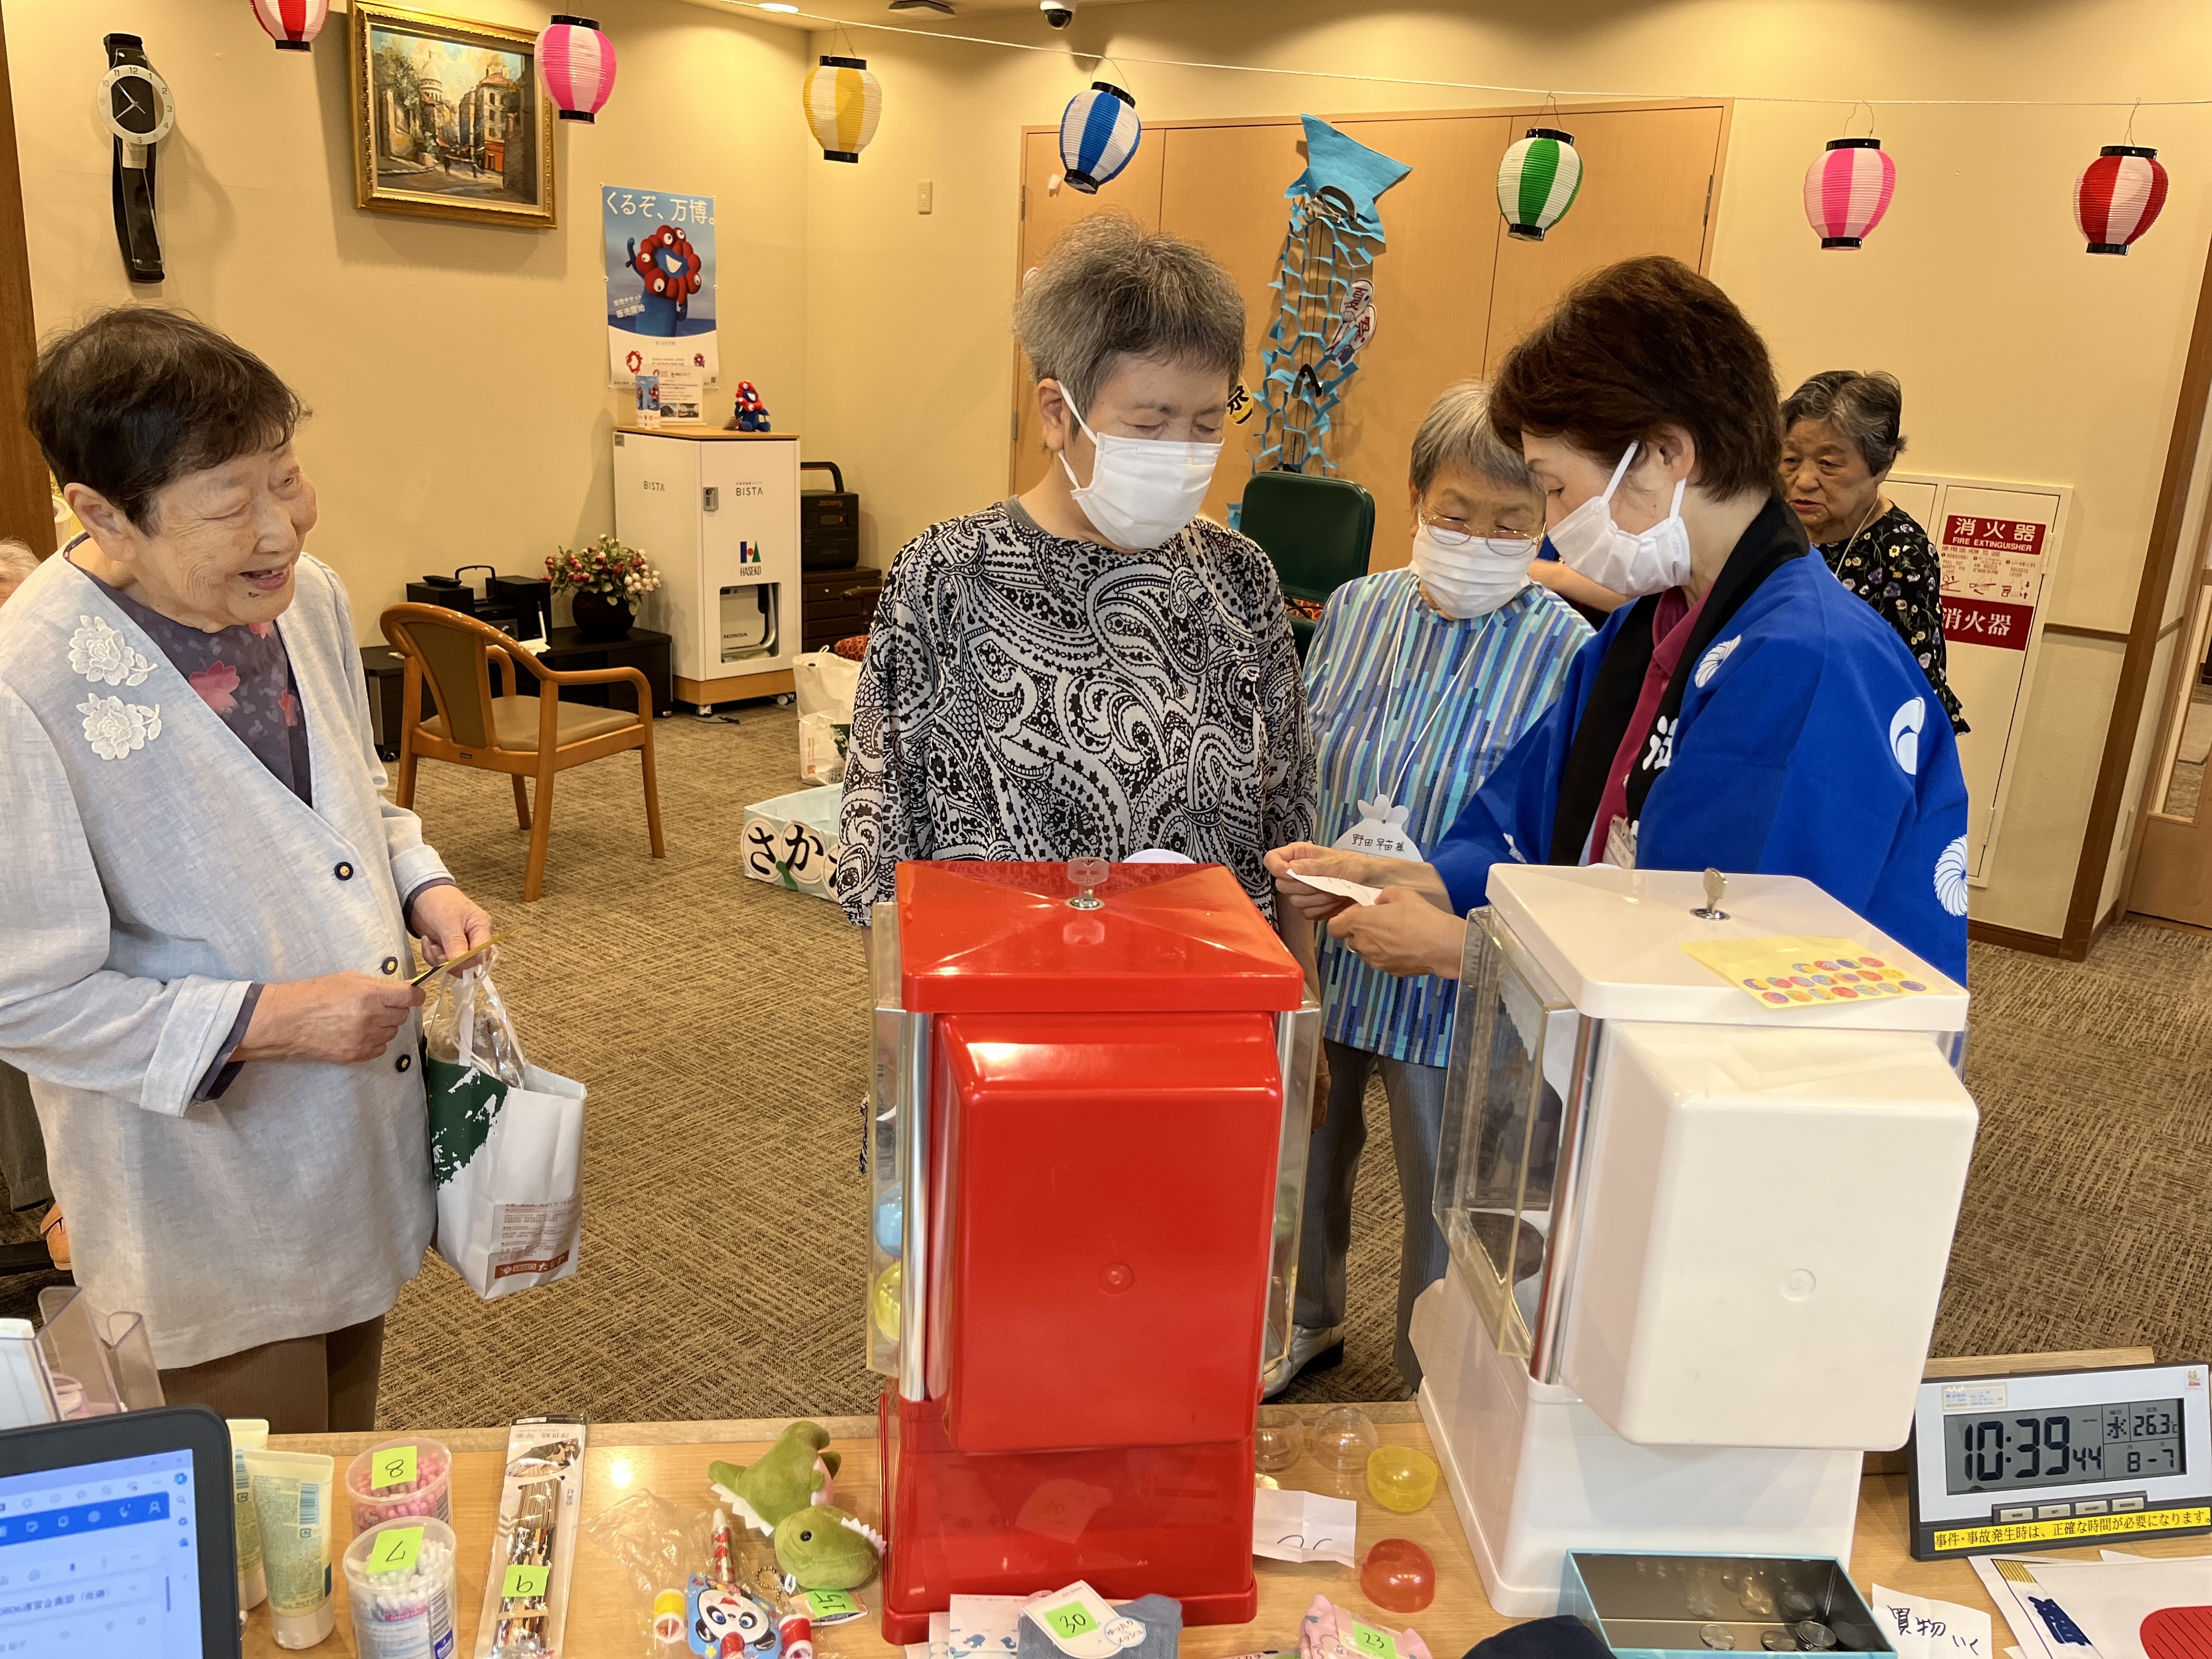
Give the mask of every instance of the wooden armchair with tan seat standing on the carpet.
[[[646, 830], [653, 856], [661, 843], [661, 794], [653, 772], [653, 688], [635, 668], [557, 672], [487, 622], [436, 604], [396, 604], [383, 615], [385, 639], [407, 659], [407, 701], [400, 719], [400, 774], [396, 799], [414, 805], [416, 761], [451, 761], [482, 772], [507, 772], [515, 785], [515, 823], [531, 832], [531, 863], [522, 898], [535, 900], [546, 883], [546, 836], [553, 827], [553, 774], [571, 765], [637, 750], [646, 768]], [[538, 695], [520, 695], [515, 664], [538, 679]], [[502, 688], [491, 690], [500, 664]], [[422, 719], [422, 677], [429, 675], [438, 714]], [[562, 686], [626, 684], [637, 710], [588, 708], [560, 701]], [[538, 779], [538, 807], [522, 787]]]

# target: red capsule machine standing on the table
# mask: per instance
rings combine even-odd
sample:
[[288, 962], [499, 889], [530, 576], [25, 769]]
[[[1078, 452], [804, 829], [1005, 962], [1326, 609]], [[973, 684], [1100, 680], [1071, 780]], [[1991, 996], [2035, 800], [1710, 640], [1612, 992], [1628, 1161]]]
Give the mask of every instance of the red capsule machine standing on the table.
[[885, 1639], [1077, 1577], [1250, 1619], [1321, 1035], [1298, 964], [1219, 865], [907, 863], [874, 936]]

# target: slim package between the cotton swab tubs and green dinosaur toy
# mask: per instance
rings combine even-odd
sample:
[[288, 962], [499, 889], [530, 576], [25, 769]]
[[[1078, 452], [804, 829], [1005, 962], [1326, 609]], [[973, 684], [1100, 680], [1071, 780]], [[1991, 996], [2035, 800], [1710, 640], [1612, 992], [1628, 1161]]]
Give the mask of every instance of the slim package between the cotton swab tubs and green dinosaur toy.
[[476, 1659], [557, 1659], [584, 1504], [584, 1418], [515, 1418], [507, 1429], [500, 1524], [484, 1575]]

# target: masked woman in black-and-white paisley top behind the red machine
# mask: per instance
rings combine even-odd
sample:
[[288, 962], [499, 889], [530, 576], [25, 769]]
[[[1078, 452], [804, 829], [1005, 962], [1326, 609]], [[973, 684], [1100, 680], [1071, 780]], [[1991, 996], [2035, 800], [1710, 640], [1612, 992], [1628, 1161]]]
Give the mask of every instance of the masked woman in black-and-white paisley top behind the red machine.
[[1267, 555], [1199, 518], [1243, 321], [1206, 250], [1117, 217], [1024, 283], [1053, 462], [891, 564], [845, 768], [854, 922], [905, 858], [1148, 849], [1225, 865], [1274, 916], [1265, 852], [1314, 821], [1298, 653]]

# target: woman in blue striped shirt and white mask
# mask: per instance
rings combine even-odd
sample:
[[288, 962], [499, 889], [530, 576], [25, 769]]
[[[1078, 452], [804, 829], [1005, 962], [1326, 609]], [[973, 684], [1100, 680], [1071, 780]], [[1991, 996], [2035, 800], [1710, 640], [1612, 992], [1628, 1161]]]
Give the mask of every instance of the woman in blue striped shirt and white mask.
[[[1489, 392], [1451, 387], [1413, 438], [1413, 562], [1338, 588], [1305, 661], [1321, 757], [1316, 830], [1325, 845], [1420, 863], [1528, 726], [1551, 706], [1590, 637], [1562, 599], [1528, 580], [1544, 535], [1544, 491], [1491, 429]], [[1267, 854], [1281, 874], [1298, 843]], [[1398, 1374], [1418, 1387], [1407, 1340], [1413, 1298], [1444, 1272], [1429, 1210], [1444, 1115], [1458, 987], [1367, 967], [1321, 938], [1329, 1099], [1314, 1130], [1298, 1254], [1292, 1365], [1343, 1358], [1352, 1181], [1367, 1141], [1376, 1066], [1389, 1097], [1405, 1248], [1398, 1263]]]

